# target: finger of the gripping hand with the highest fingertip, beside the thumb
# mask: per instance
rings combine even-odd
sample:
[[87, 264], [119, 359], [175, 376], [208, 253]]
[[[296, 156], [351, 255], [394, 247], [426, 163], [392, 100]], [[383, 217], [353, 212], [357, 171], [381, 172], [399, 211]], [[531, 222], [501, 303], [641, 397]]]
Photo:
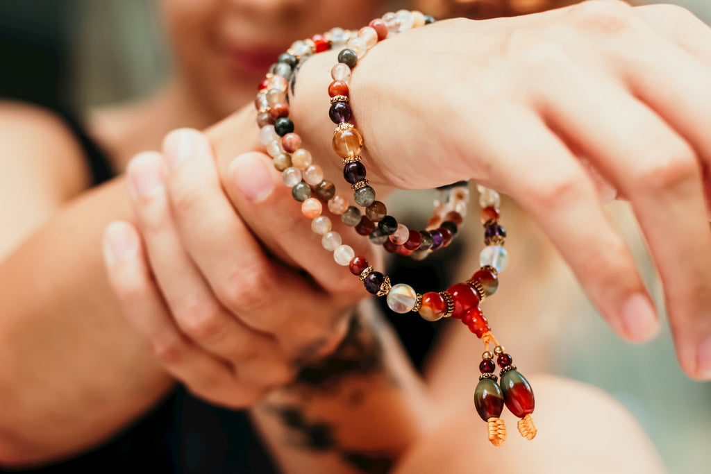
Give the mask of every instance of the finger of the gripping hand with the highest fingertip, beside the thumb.
[[[190, 129], [173, 131], [164, 149], [176, 227], [219, 301], [251, 327], [279, 335], [281, 343], [295, 350], [330, 335], [328, 318], [348, 302], [326, 298], [264, 254], [251, 233], [255, 230], [246, 227], [225, 196], [205, 136]], [[250, 178], [255, 182], [259, 177]], [[270, 201], [258, 212], [269, 224], [287, 219], [290, 211]], [[289, 229], [296, 244], [303, 234], [301, 228]], [[273, 241], [274, 228], [257, 235]]]

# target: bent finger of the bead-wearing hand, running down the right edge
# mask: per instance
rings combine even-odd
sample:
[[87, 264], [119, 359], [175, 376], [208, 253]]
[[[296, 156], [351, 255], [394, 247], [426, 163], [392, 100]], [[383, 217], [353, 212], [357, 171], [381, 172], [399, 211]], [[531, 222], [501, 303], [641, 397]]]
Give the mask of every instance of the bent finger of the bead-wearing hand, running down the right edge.
[[547, 119], [631, 200], [665, 289], [680, 363], [693, 377], [711, 375], [697, 358], [711, 338], [711, 234], [695, 152], [621, 85], [576, 67], [558, 68], [557, 80], [544, 93]]

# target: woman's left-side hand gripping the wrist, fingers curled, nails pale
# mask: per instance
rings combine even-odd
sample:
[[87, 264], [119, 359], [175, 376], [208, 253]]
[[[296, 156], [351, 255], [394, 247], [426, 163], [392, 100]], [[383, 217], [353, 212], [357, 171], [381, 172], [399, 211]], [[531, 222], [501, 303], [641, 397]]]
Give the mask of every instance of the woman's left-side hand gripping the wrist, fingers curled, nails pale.
[[107, 227], [109, 279], [174, 377], [244, 407], [289, 382], [296, 360], [336, 348], [365, 292], [310, 232], [268, 156], [238, 156], [220, 183], [208, 139], [182, 129], [127, 174], [137, 227]]

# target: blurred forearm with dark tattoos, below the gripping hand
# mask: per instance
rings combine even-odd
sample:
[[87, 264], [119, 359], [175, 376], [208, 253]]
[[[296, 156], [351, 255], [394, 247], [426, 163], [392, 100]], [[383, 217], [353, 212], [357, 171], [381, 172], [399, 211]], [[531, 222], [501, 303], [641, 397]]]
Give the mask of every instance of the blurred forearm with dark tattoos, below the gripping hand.
[[252, 416], [284, 472], [385, 473], [432, 426], [430, 408], [400, 341], [365, 304], [333, 355]]

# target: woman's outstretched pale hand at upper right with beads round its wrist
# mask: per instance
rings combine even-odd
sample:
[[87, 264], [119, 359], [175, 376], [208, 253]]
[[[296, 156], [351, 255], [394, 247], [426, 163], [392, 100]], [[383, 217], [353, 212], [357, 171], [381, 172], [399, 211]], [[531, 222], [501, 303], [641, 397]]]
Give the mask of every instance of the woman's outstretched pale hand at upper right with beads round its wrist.
[[[296, 123], [323, 137], [311, 146], [324, 153], [326, 119], [304, 102], [324, 96], [328, 75], [313, 77], [326, 63], [333, 58], [314, 56], [301, 68], [292, 100]], [[657, 316], [604, 215], [590, 163], [636, 213], [681, 365], [709, 379], [709, 84], [711, 30], [697, 18], [677, 6], [601, 0], [401, 33], [359, 61], [351, 106], [371, 181], [412, 189], [473, 178], [512, 196], [614, 330], [647, 340]]]

